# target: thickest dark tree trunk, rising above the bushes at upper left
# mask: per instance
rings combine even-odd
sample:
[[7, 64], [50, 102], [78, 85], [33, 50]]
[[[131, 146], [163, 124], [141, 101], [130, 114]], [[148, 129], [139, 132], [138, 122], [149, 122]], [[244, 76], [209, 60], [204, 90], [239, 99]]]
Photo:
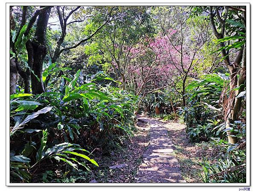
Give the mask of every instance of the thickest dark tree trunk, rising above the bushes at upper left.
[[47, 23], [49, 20], [50, 12], [51, 12], [51, 9], [47, 9], [41, 12], [40, 15], [38, 16], [38, 21], [37, 21], [36, 31], [35, 31], [36, 41], [32, 42], [33, 52], [28, 51], [28, 55], [30, 57], [33, 57], [32, 70], [34, 71], [35, 75], [40, 79], [40, 81], [38, 81], [38, 78], [34, 74], [31, 74], [31, 87], [32, 87], [33, 94], [40, 94], [45, 92], [42, 74], [43, 74], [44, 58], [47, 55], [46, 29], [47, 29]]

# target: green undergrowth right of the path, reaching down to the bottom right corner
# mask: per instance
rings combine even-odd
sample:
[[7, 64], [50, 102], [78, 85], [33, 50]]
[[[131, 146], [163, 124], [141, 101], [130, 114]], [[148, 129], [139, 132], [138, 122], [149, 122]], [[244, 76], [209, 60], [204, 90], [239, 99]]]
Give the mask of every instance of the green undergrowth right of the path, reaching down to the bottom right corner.
[[[239, 143], [227, 142], [224, 114], [221, 102], [223, 88], [229, 83], [224, 74], [209, 74], [187, 86], [187, 106], [180, 110], [186, 122], [186, 133], [192, 142], [209, 141], [218, 151], [215, 160], [204, 160], [201, 166], [203, 182], [243, 183], [246, 182], [245, 124], [236, 121], [233, 132]], [[228, 92], [229, 90], [227, 90]], [[211, 162], [211, 163], [210, 163]]]

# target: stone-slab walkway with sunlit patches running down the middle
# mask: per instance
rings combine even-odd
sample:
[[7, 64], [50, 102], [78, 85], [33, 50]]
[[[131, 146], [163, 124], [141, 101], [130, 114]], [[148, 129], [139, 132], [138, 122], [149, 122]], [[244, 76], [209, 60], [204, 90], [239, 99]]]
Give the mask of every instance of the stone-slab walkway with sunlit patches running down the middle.
[[150, 141], [135, 182], [186, 183], [180, 175], [180, 165], [173, 154], [175, 146], [163, 122], [145, 116], [138, 116], [138, 119], [150, 125]]

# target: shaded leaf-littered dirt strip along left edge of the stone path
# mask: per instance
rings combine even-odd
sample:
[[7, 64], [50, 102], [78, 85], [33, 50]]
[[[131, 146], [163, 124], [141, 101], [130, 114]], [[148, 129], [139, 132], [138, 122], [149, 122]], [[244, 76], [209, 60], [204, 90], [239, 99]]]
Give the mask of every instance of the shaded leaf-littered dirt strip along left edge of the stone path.
[[137, 170], [143, 159], [149, 141], [149, 125], [137, 122], [137, 131], [130, 141], [123, 143], [111, 154], [101, 154], [94, 157], [99, 168], [88, 175], [90, 183], [134, 183]]

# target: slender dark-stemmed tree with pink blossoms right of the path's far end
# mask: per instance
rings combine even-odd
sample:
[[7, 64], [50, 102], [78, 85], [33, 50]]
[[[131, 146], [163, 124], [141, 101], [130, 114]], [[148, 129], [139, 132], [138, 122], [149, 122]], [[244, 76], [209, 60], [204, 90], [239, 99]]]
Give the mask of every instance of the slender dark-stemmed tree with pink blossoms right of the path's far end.
[[[177, 17], [172, 20], [171, 15], [174, 12]], [[186, 8], [182, 7], [170, 8], [170, 17], [161, 17], [163, 12], [158, 14], [161, 18], [161, 35], [152, 46], [159, 53], [159, 65], [168, 77], [166, 83], [174, 87], [182, 96], [183, 106], [186, 106], [188, 77], [193, 76], [192, 71], [195, 65], [202, 59], [202, 55], [198, 52], [211, 38], [209, 22], [204, 19], [204, 16], [197, 19], [190, 18]], [[177, 84], [179, 81], [182, 82], [181, 86]]]

